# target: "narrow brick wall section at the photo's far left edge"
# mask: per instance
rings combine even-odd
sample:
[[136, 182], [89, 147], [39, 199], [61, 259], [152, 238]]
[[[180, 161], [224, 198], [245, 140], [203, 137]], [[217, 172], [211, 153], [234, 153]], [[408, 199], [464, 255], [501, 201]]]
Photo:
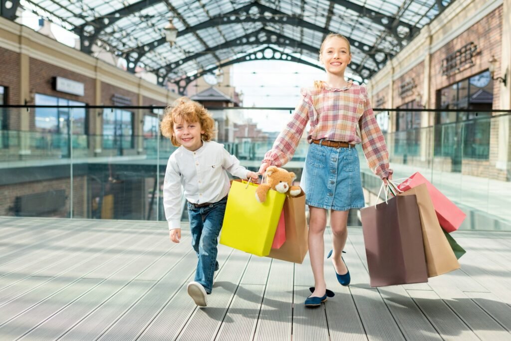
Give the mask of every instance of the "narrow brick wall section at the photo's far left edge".
[[[7, 87], [7, 104], [20, 104], [19, 94], [19, 53], [0, 47], [0, 85]], [[17, 109], [9, 109], [17, 110]], [[19, 115], [9, 115], [9, 129], [19, 130]]]

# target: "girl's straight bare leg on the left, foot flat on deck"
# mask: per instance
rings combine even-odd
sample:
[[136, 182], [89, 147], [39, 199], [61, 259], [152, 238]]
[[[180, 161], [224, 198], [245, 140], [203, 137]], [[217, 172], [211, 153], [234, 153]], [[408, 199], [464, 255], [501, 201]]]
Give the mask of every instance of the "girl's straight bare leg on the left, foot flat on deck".
[[324, 229], [327, 227], [327, 210], [309, 206], [309, 256], [314, 274], [315, 290], [311, 296], [322, 297], [327, 289], [324, 281]]

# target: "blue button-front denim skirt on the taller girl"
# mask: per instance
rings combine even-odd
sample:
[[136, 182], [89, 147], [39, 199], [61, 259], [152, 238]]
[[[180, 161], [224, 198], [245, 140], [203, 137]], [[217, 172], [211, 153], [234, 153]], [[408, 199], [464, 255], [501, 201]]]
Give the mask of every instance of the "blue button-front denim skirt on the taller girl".
[[311, 143], [301, 184], [307, 205], [336, 211], [365, 206], [355, 148]]

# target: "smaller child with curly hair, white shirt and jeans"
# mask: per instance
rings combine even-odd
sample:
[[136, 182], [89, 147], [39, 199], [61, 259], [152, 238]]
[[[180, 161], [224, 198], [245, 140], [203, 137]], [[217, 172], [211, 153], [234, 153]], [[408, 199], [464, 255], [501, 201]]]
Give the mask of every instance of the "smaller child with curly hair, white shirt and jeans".
[[161, 133], [179, 147], [169, 157], [163, 187], [163, 204], [169, 224], [170, 240], [181, 238], [181, 186], [188, 201], [192, 247], [198, 262], [195, 280], [188, 284], [188, 294], [198, 306], [207, 305], [213, 289], [213, 275], [218, 270], [217, 244], [222, 228], [230, 184], [227, 172], [247, 179], [258, 179], [223, 144], [211, 141], [214, 120], [197, 102], [180, 98], [168, 107], [161, 120]]

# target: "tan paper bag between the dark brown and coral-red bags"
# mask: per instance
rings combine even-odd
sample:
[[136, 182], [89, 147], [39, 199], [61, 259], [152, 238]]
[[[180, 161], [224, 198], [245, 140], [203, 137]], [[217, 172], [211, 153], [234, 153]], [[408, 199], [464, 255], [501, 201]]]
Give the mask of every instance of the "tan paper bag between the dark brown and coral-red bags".
[[399, 194], [399, 196], [411, 195], [416, 197], [417, 206], [419, 206], [428, 277], [442, 275], [459, 269], [456, 255], [450, 247], [442, 227], [438, 223], [435, 208], [426, 184], [421, 184]]

